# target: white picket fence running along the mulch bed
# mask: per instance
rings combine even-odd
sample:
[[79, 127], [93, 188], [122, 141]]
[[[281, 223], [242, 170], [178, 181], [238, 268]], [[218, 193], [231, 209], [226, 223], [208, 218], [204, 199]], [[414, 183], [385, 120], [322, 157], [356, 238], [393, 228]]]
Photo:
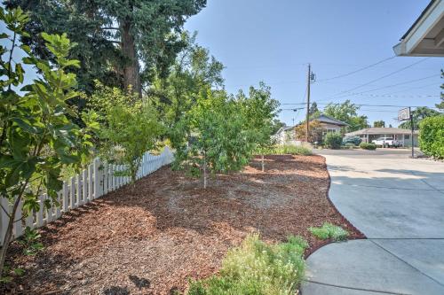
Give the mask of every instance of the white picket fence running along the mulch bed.
[[[160, 155], [151, 155], [146, 152], [140, 164], [137, 178], [149, 175], [160, 167], [170, 164], [172, 159], [173, 154], [168, 147], [165, 147]], [[87, 204], [95, 198], [100, 198], [129, 183], [130, 177], [115, 175], [115, 172], [122, 170], [123, 165], [109, 165], [102, 163], [100, 159], [95, 159], [82, 173], [63, 182], [63, 188], [58, 193], [60, 206], [45, 209], [43, 204], [48, 197], [44, 194], [39, 197], [40, 210], [29, 214], [24, 221], [19, 221], [22, 219], [22, 202], [20, 202], [13, 227], [14, 238], [20, 237], [26, 227], [31, 229], [43, 227], [48, 222], [57, 220], [62, 213]], [[5, 209], [9, 210], [9, 213], [12, 212], [12, 204], [9, 204], [6, 198], [0, 198], [0, 202]], [[7, 226], [8, 216], [0, 209], [0, 245], [3, 245]]]

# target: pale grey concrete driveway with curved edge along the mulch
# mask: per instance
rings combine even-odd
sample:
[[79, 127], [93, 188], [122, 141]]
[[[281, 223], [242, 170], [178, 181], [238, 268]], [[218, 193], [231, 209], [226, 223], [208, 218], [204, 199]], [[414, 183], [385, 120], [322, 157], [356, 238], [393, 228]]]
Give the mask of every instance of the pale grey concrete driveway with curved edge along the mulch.
[[303, 295], [444, 294], [444, 163], [410, 151], [320, 151], [329, 198], [368, 239], [322, 247]]

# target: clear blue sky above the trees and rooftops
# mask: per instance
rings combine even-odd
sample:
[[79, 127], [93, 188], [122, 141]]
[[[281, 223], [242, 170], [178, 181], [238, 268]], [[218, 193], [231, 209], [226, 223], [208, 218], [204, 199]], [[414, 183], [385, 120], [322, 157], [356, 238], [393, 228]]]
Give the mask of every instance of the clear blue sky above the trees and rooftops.
[[[427, 58], [351, 91], [364, 92], [359, 95], [334, 97], [424, 58], [392, 58], [369, 70], [321, 82], [394, 56], [392, 46], [428, 3], [429, 0], [208, 0], [202, 12], [188, 19], [186, 29], [198, 31], [198, 43], [226, 66], [223, 74], [231, 93], [264, 81], [281, 104], [301, 103], [306, 64], [310, 62], [318, 80], [312, 84], [311, 97], [320, 104], [348, 98], [356, 104], [434, 106], [444, 82], [440, 79], [444, 58]], [[403, 84], [392, 86], [399, 83]], [[295, 105], [281, 105], [291, 107]], [[291, 124], [293, 118], [296, 122], [302, 120], [304, 112], [282, 111], [280, 119]], [[398, 108], [362, 106], [360, 112], [369, 117], [370, 123], [385, 120], [386, 124], [399, 124], [394, 120]]]

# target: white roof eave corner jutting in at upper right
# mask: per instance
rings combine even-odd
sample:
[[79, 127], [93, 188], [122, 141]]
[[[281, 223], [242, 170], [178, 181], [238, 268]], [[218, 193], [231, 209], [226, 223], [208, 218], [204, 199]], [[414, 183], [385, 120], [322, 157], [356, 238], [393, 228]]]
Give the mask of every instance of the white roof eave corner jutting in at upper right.
[[393, 50], [404, 57], [444, 57], [444, 0], [432, 0]]

